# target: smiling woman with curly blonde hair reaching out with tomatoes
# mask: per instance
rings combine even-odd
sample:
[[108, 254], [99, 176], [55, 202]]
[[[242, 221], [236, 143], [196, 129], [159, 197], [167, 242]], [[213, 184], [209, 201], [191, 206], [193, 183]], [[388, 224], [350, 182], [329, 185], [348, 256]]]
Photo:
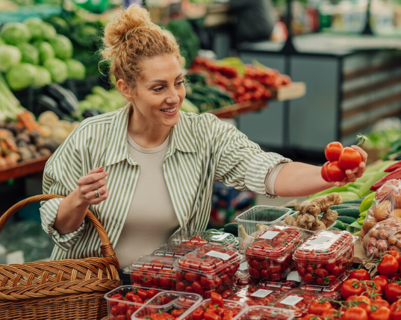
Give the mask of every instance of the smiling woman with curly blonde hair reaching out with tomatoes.
[[[120, 262], [149, 254], [178, 228], [203, 230], [214, 179], [239, 190], [302, 196], [333, 186], [320, 167], [263, 152], [214, 115], [180, 112], [185, 97], [174, 39], [131, 6], [105, 28], [102, 54], [112, 60], [129, 104], [85, 119], [50, 157], [44, 193], [66, 195], [41, 208], [57, 246], [51, 258], [100, 255], [100, 239], [84, 221], [89, 208], [104, 226]], [[361, 176], [363, 163], [341, 184]], [[340, 183], [336, 183], [339, 185]]]

